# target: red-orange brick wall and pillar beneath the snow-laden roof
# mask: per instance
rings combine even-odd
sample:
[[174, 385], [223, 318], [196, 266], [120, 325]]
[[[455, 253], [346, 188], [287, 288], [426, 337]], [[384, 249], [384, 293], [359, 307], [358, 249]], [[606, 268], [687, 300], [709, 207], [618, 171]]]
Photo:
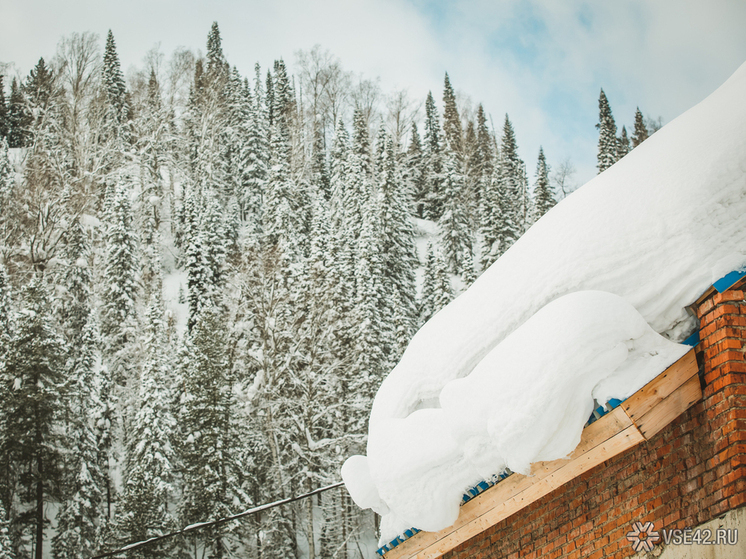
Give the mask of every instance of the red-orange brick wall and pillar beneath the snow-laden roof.
[[[740, 283], [740, 282], [739, 282]], [[746, 504], [746, 298], [698, 304], [702, 401], [608, 460], [444, 555], [449, 559], [629, 557], [635, 521], [696, 527]]]

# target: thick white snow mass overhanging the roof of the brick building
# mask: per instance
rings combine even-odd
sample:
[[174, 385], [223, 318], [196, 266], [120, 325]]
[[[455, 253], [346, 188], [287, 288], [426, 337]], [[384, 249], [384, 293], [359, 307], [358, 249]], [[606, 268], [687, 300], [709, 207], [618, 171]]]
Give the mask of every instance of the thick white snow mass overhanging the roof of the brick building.
[[343, 468], [356, 502], [386, 513], [382, 540], [448, 526], [506, 465], [567, 455], [594, 396], [626, 397], [683, 354], [656, 332], [682, 340], [685, 307], [746, 265], [744, 99], [746, 65], [417, 333], [373, 404], [368, 457]]

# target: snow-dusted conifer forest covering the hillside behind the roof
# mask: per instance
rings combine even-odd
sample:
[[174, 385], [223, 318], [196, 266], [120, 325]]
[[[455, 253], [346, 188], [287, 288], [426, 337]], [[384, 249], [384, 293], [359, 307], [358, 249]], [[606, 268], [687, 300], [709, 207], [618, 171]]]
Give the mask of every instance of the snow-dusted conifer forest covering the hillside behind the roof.
[[[82, 33], [0, 76], [2, 559], [338, 481], [414, 332], [572, 188], [447, 74], [440, 107], [320, 48], [244, 76], [217, 24], [146, 60]], [[603, 171], [653, 129], [599, 112]], [[376, 522], [336, 489], [130, 556], [359, 557]]]

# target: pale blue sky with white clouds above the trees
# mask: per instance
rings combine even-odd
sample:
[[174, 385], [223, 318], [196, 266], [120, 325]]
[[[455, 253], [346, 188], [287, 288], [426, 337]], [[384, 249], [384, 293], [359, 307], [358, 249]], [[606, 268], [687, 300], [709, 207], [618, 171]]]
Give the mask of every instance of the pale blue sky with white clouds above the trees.
[[63, 36], [111, 29], [127, 73], [158, 44], [204, 51], [213, 21], [243, 75], [320, 44], [384, 92], [440, 103], [447, 71], [495, 127], [510, 115], [531, 176], [543, 145], [578, 183], [595, 174], [601, 87], [620, 128], [636, 106], [668, 122], [746, 62], [743, 0], [0, 0], [0, 62], [25, 76]]

